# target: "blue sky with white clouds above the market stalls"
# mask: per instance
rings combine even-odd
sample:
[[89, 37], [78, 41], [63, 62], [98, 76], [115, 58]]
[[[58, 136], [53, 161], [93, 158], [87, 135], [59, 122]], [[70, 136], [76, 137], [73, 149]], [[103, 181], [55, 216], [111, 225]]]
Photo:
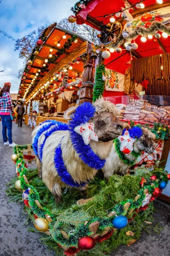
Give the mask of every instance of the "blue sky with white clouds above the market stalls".
[[[1, 0], [0, 0], [1, 1]], [[73, 15], [71, 7], [77, 0], [2, 0], [0, 3], [0, 29], [13, 38], [22, 38], [39, 26], [49, 26]], [[14, 41], [0, 33], [0, 87], [11, 83], [10, 93], [17, 93], [20, 79], [18, 70], [23, 60], [14, 51]]]

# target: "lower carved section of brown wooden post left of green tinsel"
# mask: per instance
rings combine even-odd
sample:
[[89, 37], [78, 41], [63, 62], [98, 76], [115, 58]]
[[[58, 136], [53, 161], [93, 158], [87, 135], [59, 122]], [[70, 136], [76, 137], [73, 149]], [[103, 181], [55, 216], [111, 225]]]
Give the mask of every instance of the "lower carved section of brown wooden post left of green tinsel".
[[[94, 66], [86, 63], [82, 73], [82, 87], [80, 88], [79, 104], [93, 101]], [[90, 82], [90, 83], [89, 83]]]

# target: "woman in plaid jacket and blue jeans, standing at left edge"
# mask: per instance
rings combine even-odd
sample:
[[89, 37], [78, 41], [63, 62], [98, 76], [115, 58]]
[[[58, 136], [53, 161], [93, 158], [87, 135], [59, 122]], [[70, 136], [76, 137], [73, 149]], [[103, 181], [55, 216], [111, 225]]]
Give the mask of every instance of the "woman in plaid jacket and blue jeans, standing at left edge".
[[[11, 95], [9, 90], [11, 88], [10, 83], [5, 83], [0, 91], [0, 117], [3, 126], [3, 142], [4, 145], [9, 145], [10, 148], [16, 144], [12, 141], [12, 116], [14, 108], [12, 105]], [[8, 130], [8, 137], [6, 131]], [[9, 140], [9, 141], [8, 141]]]

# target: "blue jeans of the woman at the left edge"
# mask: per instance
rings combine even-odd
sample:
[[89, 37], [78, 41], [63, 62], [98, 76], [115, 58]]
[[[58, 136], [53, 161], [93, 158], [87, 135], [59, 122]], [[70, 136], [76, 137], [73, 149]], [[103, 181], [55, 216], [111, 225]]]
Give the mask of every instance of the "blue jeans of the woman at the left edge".
[[8, 130], [9, 144], [12, 144], [12, 120], [10, 115], [0, 115], [3, 125], [3, 141], [7, 142], [6, 129]]

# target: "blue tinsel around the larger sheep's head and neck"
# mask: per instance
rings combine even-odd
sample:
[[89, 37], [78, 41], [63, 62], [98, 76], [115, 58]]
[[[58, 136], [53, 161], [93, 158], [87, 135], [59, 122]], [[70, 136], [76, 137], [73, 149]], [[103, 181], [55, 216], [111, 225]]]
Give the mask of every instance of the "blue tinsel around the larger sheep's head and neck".
[[82, 105], [77, 107], [76, 112], [72, 114], [72, 120], [69, 122], [68, 126], [70, 128], [70, 138], [73, 147], [77, 154], [79, 154], [80, 159], [93, 169], [102, 169], [105, 166], [105, 160], [100, 159], [90, 145], [85, 145], [82, 136], [74, 131], [74, 128], [82, 123], [89, 122], [94, 116], [95, 107], [90, 102], [84, 102]]

